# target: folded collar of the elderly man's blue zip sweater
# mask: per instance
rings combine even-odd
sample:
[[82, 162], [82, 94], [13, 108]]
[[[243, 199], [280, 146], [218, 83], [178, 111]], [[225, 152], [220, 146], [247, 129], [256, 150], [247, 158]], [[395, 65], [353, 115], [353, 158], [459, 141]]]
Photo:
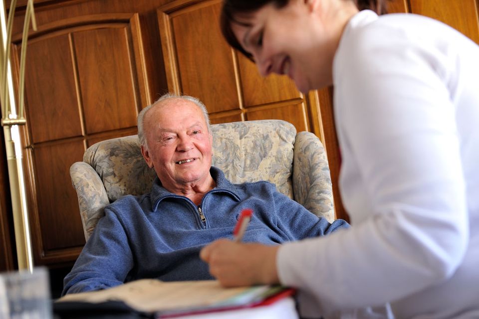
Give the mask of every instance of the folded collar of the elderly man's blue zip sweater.
[[[210, 173], [213, 179], [216, 182], [216, 187], [210, 190], [208, 193], [212, 191], [223, 191], [226, 193], [229, 193], [233, 198], [236, 200], [240, 201], [241, 200], [241, 194], [240, 194], [240, 189], [236, 187], [234, 184], [232, 184], [226, 177], [225, 173], [218, 167], [211, 166], [210, 168]], [[207, 193], [207, 194], [208, 194]], [[158, 178], [158, 176], [155, 178], [153, 182], [153, 186], [151, 189], [151, 202], [153, 204], [153, 210], [156, 209], [158, 206], [158, 203], [163, 200], [166, 197], [184, 197], [187, 198], [186, 196], [183, 195], [178, 195], [175, 193], [170, 192], [167, 190], [165, 187], [161, 185], [161, 181]], [[206, 196], [206, 194], [205, 194]]]

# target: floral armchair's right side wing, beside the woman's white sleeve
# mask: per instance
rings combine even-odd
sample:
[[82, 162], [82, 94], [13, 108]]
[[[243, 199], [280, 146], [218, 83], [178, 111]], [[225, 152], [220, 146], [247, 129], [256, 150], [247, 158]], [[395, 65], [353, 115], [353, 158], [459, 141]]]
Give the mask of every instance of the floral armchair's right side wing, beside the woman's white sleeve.
[[329, 222], [335, 218], [329, 165], [321, 141], [310, 132], [300, 132], [294, 142], [294, 200]]

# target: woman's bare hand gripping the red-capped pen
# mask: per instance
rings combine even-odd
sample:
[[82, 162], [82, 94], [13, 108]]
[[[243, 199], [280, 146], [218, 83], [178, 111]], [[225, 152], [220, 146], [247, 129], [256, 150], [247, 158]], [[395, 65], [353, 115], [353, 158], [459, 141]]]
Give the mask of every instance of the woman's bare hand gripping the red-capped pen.
[[279, 246], [220, 239], [204, 247], [200, 258], [210, 265], [210, 274], [225, 287], [278, 284], [278, 249]]

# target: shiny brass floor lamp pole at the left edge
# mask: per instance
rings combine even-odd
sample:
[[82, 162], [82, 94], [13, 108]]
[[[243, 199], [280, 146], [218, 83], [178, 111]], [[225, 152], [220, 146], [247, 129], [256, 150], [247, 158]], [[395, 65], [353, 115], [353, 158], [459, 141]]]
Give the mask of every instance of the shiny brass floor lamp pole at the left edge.
[[5, 0], [0, 0], [0, 103], [1, 126], [5, 138], [5, 149], [8, 165], [8, 178], [10, 183], [11, 205], [13, 224], [15, 230], [15, 244], [19, 270], [33, 271], [33, 257], [31, 252], [30, 229], [28, 224], [28, 211], [26, 207], [25, 186], [21, 156], [21, 141], [18, 126], [25, 125], [23, 116], [23, 91], [25, 83], [25, 57], [26, 41], [30, 20], [36, 30], [33, 0], [28, 0], [23, 24], [21, 40], [20, 72], [18, 89], [18, 112], [15, 106], [13, 80], [10, 66], [11, 31], [13, 16], [15, 14], [16, 0], [11, 0], [8, 20], [5, 21]]

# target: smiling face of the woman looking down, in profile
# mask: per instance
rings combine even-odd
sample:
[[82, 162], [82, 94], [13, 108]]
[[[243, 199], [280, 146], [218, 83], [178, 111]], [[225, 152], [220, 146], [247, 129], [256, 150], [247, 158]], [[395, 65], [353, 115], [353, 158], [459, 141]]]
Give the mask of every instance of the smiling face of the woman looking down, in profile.
[[[332, 63], [342, 29], [338, 5], [344, 0], [290, 0], [267, 4], [232, 23], [242, 47], [252, 54], [262, 76], [286, 74], [301, 92], [332, 84]], [[343, 21], [344, 20], [344, 21]]]

